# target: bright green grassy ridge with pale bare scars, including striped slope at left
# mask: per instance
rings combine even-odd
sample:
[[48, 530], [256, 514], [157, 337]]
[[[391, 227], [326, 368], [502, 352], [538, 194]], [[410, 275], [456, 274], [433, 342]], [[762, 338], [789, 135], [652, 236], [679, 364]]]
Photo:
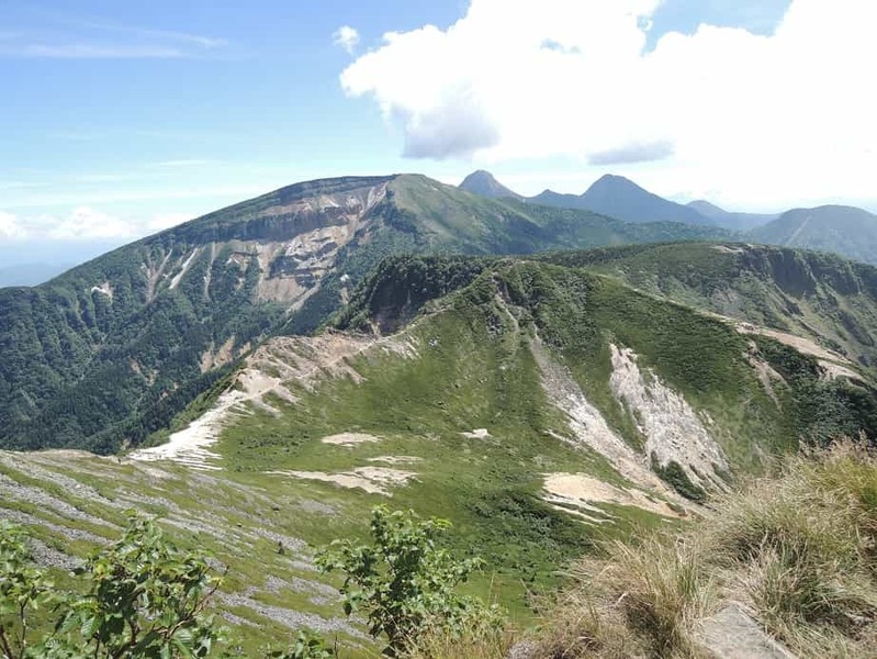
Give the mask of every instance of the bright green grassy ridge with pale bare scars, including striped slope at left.
[[874, 436], [857, 377], [576, 266], [396, 258], [335, 330], [262, 344], [166, 445], [0, 453], [0, 516], [66, 569], [125, 509], [160, 515], [228, 567], [220, 607], [249, 647], [301, 625], [364, 645], [313, 548], [386, 502], [453, 521], [487, 561], [472, 591], [526, 624], [527, 593], [598, 540], [701, 514], [802, 437]]

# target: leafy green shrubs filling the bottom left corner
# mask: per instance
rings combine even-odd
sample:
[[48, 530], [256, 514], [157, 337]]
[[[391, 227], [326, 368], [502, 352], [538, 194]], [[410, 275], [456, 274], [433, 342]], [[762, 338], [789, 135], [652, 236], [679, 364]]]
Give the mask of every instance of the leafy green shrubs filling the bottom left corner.
[[[0, 647], [8, 659], [206, 657], [223, 633], [205, 608], [220, 584], [206, 560], [131, 517], [121, 539], [76, 573], [81, 594], [52, 594], [24, 532], [0, 524]], [[53, 602], [54, 632], [34, 638], [27, 613]]]

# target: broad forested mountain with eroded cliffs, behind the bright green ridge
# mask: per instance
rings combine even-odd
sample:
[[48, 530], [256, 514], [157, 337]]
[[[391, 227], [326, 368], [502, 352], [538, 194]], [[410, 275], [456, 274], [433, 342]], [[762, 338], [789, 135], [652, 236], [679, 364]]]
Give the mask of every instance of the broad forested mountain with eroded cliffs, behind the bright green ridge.
[[0, 446], [115, 450], [271, 333], [301, 334], [392, 254], [709, 236], [483, 199], [421, 176], [290, 186], [0, 290]]

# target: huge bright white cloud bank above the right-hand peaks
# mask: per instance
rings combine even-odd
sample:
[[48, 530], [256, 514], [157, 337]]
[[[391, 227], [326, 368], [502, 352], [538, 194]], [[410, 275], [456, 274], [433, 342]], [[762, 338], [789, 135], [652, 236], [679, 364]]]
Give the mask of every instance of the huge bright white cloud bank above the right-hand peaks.
[[772, 35], [700, 25], [646, 52], [659, 4], [472, 0], [448, 30], [384, 35], [340, 81], [414, 157], [619, 164], [664, 193], [754, 204], [874, 198], [877, 3], [792, 0]]

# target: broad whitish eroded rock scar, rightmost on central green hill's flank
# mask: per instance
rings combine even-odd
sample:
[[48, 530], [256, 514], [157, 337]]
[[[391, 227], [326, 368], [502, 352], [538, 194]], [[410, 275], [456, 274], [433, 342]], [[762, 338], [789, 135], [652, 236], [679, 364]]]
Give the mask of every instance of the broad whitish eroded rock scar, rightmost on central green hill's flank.
[[661, 467], [676, 462], [701, 488], [726, 489], [720, 476], [729, 471], [724, 453], [682, 394], [654, 373], [646, 381], [632, 350], [615, 345], [609, 348], [612, 362], [609, 384], [637, 418], [645, 438], [645, 455]]

